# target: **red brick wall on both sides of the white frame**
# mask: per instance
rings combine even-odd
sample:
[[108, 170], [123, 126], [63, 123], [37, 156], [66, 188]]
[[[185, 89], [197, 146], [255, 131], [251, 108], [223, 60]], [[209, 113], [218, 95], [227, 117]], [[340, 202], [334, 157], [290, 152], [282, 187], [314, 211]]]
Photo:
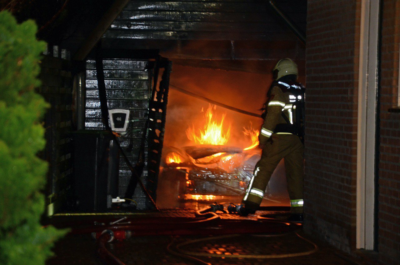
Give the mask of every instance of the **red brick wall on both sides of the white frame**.
[[[400, 1], [384, 0], [379, 114], [378, 253], [400, 265]], [[304, 229], [355, 248], [360, 1], [309, 0]]]

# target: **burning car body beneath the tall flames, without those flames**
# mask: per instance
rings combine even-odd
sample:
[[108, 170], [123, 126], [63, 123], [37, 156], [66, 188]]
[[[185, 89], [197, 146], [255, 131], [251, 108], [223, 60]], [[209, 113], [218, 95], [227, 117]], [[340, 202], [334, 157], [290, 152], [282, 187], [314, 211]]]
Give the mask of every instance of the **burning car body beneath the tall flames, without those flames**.
[[[259, 152], [238, 147], [201, 145], [166, 147], [163, 177], [186, 180], [180, 193], [239, 195], [246, 189]], [[173, 177], [172, 177], [173, 178]]]

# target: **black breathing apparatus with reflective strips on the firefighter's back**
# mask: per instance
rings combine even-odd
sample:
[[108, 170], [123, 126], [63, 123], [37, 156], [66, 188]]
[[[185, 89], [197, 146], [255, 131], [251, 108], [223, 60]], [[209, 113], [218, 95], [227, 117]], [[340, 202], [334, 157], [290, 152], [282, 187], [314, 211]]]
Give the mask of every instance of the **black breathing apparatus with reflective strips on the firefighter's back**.
[[293, 123], [286, 117], [284, 112], [281, 112], [282, 118], [286, 121], [286, 123], [279, 123], [276, 125], [274, 129], [274, 133], [276, 132], [289, 132], [294, 135], [300, 137], [302, 143], [304, 143], [304, 94], [305, 87], [298, 82], [282, 82], [282, 81], [274, 81], [272, 82], [270, 89], [268, 90], [267, 96], [268, 100], [265, 102], [263, 107], [262, 118], [265, 119], [267, 115], [267, 106], [268, 102], [271, 98], [272, 88], [274, 86], [278, 86], [282, 92], [289, 92], [289, 101], [292, 104], [292, 113], [294, 113]]

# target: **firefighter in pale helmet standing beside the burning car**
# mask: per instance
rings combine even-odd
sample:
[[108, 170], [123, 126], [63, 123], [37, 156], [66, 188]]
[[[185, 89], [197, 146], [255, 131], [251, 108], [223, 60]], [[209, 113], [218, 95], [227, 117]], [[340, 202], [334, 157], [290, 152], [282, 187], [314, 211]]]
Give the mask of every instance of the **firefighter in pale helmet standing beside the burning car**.
[[274, 82], [268, 90], [265, 118], [259, 147], [260, 161], [248, 184], [242, 205], [236, 211], [243, 216], [254, 213], [259, 207], [264, 191], [281, 159], [284, 159], [291, 205], [290, 221], [303, 219], [303, 120], [304, 86], [296, 82], [297, 65], [284, 58], [274, 67]]

